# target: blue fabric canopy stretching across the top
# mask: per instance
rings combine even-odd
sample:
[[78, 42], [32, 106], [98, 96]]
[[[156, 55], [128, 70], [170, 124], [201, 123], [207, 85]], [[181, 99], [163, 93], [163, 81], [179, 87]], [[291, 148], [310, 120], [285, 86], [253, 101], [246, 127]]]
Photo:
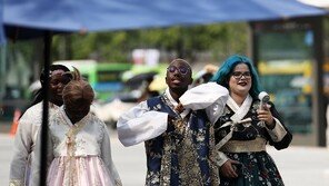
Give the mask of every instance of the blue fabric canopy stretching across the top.
[[[40, 30], [59, 32], [106, 31], [258, 21], [321, 16], [325, 10], [297, 0], [2, 0], [8, 35], [34, 37]], [[37, 30], [36, 30], [37, 29]], [[38, 32], [39, 30], [39, 32]], [[42, 32], [41, 32], [42, 33]]]

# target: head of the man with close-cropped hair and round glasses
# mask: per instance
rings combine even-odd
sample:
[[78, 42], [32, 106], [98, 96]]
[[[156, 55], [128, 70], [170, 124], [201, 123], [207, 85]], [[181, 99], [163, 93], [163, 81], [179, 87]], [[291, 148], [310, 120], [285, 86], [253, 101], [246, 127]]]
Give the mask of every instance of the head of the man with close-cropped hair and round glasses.
[[192, 84], [190, 65], [182, 60], [173, 60], [167, 68], [166, 82], [170, 91], [182, 95]]

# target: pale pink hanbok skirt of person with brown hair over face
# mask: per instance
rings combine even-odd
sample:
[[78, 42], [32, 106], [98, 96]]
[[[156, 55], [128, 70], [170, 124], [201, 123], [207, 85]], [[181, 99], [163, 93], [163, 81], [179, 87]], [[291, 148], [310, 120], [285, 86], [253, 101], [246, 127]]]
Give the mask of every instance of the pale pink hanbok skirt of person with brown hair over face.
[[108, 168], [98, 156], [57, 157], [52, 160], [48, 186], [112, 186]]

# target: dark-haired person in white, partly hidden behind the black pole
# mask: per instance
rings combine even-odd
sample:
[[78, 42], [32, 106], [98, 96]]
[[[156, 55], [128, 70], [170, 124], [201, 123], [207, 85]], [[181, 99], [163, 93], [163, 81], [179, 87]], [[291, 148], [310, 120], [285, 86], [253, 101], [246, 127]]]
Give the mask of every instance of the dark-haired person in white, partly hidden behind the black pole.
[[44, 97], [44, 77], [49, 76], [49, 116], [62, 105], [63, 86], [70, 81], [66, 74], [69, 69], [62, 65], [51, 65], [50, 71], [41, 71], [41, 89], [34, 97], [32, 105], [19, 119], [14, 136], [13, 156], [10, 164], [9, 185], [29, 185], [31, 161], [39, 127], [42, 123], [42, 100]]

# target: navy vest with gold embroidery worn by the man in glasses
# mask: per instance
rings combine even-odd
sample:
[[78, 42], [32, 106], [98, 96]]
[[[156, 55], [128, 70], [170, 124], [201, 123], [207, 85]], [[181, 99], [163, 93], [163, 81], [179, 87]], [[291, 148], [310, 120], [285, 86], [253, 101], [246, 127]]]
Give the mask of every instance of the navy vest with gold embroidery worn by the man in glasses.
[[[150, 99], [148, 105], [150, 109], [176, 115], [166, 96]], [[178, 120], [185, 123], [182, 128], [169, 126], [164, 134], [146, 141], [146, 185], [211, 185], [218, 178], [216, 167], [209, 161], [211, 137], [206, 112], [192, 111]]]

